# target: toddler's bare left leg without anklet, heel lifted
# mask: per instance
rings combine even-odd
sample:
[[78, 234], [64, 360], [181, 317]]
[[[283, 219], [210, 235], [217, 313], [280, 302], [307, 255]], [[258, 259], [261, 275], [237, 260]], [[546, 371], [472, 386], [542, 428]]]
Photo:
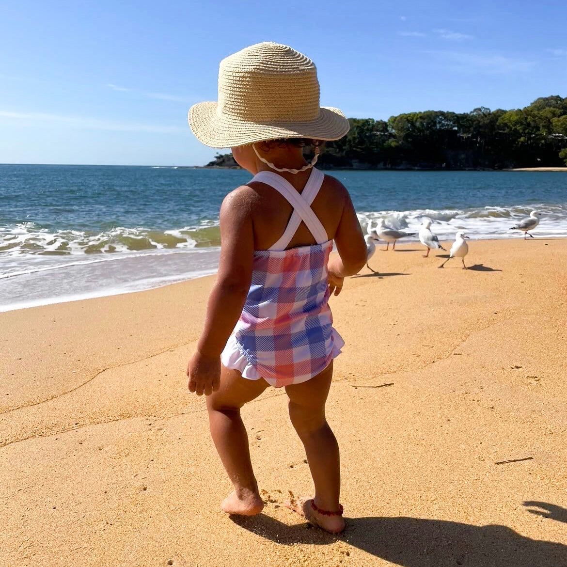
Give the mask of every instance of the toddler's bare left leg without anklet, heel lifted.
[[267, 387], [263, 379], [247, 380], [223, 366], [221, 387], [207, 396], [211, 435], [234, 485], [234, 492], [221, 503], [221, 509], [228, 514], [254, 515], [264, 507], [252, 471], [248, 434], [240, 418], [240, 408]]

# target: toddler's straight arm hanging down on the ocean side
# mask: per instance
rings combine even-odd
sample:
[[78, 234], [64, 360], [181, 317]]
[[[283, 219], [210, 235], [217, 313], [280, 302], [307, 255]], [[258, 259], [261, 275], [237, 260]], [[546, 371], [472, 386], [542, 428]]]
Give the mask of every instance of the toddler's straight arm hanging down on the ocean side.
[[189, 391], [198, 396], [218, 390], [221, 352], [244, 307], [252, 280], [254, 235], [246, 194], [236, 189], [221, 206], [221, 258], [209, 295], [205, 327], [187, 365]]

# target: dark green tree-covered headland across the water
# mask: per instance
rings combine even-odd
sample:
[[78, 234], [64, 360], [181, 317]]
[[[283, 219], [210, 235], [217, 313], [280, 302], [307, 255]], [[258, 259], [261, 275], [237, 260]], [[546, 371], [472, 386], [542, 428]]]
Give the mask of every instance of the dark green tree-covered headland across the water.
[[[387, 121], [349, 119], [350, 131], [321, 148], [323, 168], [476, 169], [567, 165], [567, 98], [521, 109], [409, 112]], [[231, 155], [209, 165], [222, 166]], [[233, 162], [234, 163], [234, 162]]]

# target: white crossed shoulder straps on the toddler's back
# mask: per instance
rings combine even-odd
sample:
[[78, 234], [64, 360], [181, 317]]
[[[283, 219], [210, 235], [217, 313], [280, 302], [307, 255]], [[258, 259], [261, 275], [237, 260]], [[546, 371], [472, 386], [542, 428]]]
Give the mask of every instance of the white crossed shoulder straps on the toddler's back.
[[260, 183], [265, 183], [276, 189], [278, 193], [289, 201], [294, 209], [284, 234], [281, 235], [276, 243], [270, 246], [270, 250], [285, 250], [301, 221], [306, 224], [318, 244], [327, 242], [327, 231], [313, 212], [313, 209], [311, 209], [311, 203], [314, 201], [317, 193], [319, 193], [324, 177], [321, 171], [313, 168], [302, 193], [298, 193], [289, 181], [272, 171], [260, 171], [252, 179], [252, 181], [260, 181]]

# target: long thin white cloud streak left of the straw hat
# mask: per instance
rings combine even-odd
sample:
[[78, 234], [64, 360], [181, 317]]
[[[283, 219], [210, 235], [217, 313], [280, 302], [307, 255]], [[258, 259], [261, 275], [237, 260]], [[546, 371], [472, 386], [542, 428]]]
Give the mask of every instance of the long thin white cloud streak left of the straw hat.
[[88, 116], [62, 116], [45, 112], [9, 112], [0, 111], [0, 118], [19, 121], [33, 121], [34, 124], [60, 124], [70, 128], [87, 130], [112, 130], [113, 132], [149, 132], [153, 134], [172, 134], [185, 132], [181, 126], [161, 126], [138, 124], [136, 122], [115, 122]]

